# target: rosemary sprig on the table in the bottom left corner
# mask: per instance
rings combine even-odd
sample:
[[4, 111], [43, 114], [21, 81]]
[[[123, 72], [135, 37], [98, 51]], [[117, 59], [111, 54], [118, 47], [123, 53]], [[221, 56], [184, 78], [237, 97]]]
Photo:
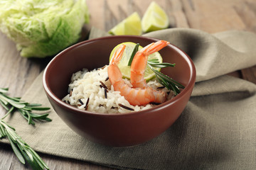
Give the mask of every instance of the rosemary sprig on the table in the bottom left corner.
[[0, 139], [4, 137], [9, 139], [14, 154], [22, 164], [27, 161], [33, 169], [49, 169], [41, 157], [17, 135], [15, 129], [0, 119]]

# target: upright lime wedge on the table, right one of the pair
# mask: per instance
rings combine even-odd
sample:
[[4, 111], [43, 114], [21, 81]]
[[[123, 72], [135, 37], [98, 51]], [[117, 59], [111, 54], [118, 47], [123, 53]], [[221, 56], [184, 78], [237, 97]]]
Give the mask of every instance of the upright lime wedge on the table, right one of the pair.
[[142, 30], [145, 33], [168, 28], [169, 18], [156, 2], [152, 1], [142, 18]]

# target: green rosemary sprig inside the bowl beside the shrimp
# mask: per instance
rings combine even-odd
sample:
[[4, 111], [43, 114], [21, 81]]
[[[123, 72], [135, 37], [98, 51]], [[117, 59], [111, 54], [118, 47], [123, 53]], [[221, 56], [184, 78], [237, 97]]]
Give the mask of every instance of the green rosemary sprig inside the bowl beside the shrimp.
[[154, 69], [154, 67], [156, 67], [156, 68], [175, 67], [175, 64], [170, 64], [167, 62], [159, 63], [158, 60], [153, 59], [153, 60], [148, 60], [147, 65], [156, 74], [157, 81], [159, 81], [159, 83], [161, 85], [165, 86], [167, 89], [174, 91], [175, 95], [177, 95], [181, 92], [179, 88], [181, 88], [181, 89], [185, 88], [182, 84], [178, 83], [174, 79], [171, 79], [170, 77], [166, 76], [165, 74]]

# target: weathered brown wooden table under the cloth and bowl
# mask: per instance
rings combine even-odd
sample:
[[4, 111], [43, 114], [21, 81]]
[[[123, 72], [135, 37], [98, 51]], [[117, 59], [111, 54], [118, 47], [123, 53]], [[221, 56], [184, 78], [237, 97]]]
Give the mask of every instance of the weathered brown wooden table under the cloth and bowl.
[[[196, 28], [208, 33], [247, 30], [256, 33], [255, 0], [158, 0], [168, 13], [171, 28]], [[87, 0], [90, 26], [110, 30], [119, 21], [137, 11], [143, 15], [150, 1]], [[0, 33], [0, 87], [9, 87], [11, 96], [22, 96], [50, 58], [26, 59], [19, 55], [14, 42]], [[230, 73], [256, 84], [256, 66]], [[6, 111], [0, 107], [0, 116]], [[23, 166], [9, 145], [0, 144], [0, 169], [30, 169]], [[50, 169], [112, 169], [105, 166], [53, 157], [39, 153]]]

